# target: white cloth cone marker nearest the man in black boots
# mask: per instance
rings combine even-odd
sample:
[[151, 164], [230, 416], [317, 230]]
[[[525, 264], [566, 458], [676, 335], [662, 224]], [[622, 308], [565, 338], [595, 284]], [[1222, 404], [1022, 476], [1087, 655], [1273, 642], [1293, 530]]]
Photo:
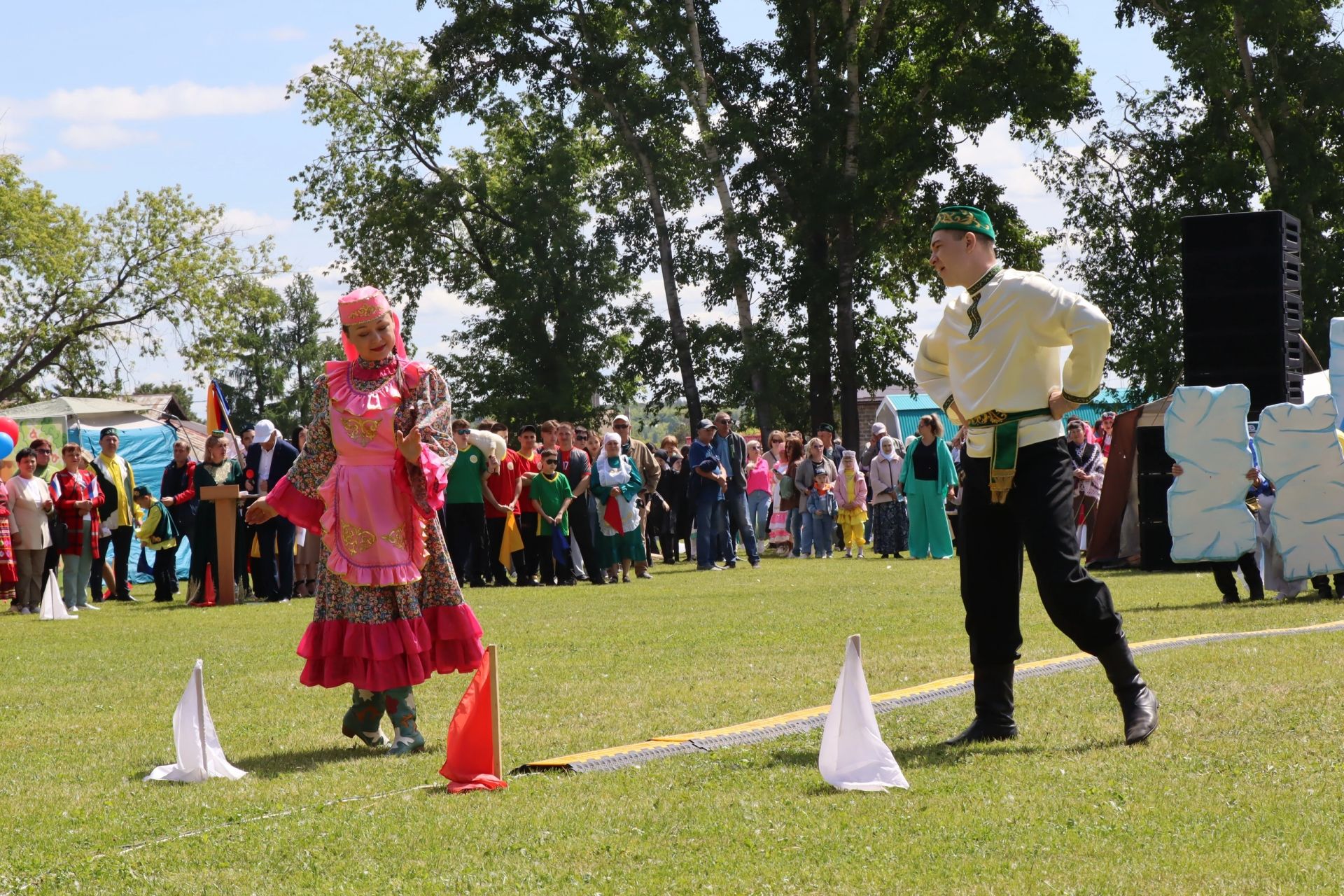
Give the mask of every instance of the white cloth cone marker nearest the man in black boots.
[[821, 778], [839, 790], [910, 787], [878, 731], [856, 634], [845, 643], [844, 668], [836, 681], [827, 727], [821, 731], [817, 767]]

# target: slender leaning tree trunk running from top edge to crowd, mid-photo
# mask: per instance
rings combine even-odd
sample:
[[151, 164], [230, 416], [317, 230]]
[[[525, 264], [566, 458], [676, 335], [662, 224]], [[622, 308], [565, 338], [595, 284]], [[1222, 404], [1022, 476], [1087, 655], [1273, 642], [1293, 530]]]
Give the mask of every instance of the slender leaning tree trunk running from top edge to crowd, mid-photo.
[[766, 368], [757, 348], [755, 330], [751, 321], [747, 271], [738, 242], [737, 208], [732, 201], [732, 192], [728, 189], [727, 173], [723, 171], [719, 146], [714, 140], [714, 129], [710, 124], [710, 86], [704, 71], [704, 54], [700, 51], [700, 27], [695, 17], [695, 0], [684, 0], [684, 4], [691, 59], [695, 63], [696, 89], [691, 90], [684, 82], [683, 89], [685, 89], [687, 98], [695, 107], [695, 120], [700, 130], [700, 146], [704, 150], [704, 159], [710, 165], [710, 175], [714, 179], [714, 189], [719, 197], [719, 210], [723, 215], [723, 249], [728, 257], [728, 277], [732, 281], [732, 297], [738, 306], [738, 330], [742, 333], [742, 355], [751, 375], [751, 394], [755, 396], [755, 411], [757, 420], [761, 423], [761, 434], [767, 435], [774, 429], [774, 414], [766, 387]]

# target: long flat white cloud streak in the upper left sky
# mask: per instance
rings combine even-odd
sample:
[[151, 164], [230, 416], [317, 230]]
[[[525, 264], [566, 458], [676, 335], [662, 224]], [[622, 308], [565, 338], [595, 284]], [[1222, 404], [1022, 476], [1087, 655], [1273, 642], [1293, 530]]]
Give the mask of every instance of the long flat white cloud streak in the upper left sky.
[[65, 121], [155, 121], [187, 116], [257, 116], [285, 105], [281, 85], [207, 87], [180, 81], [167, 87], [78, 87], [54, 90], [13, 106], [23, 118]]

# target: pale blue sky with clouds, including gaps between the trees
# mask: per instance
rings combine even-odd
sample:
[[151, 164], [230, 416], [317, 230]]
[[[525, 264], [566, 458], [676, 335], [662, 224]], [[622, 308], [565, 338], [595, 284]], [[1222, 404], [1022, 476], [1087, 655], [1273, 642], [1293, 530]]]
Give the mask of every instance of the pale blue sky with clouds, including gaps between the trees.
[[[1169, 73], [1145, 31], [1114, 27], [1111, 4], [1042, 5], [1056, 30], [1079, 40], [1102, 99], [1110, 101], [1122, 78], [1156, 87]], [[767, 36], [765, 8], [759, 0], [722, 0], [724, 31], [738, 40]], [[126, 191], [167, 184], [222, 203], [231, 224], [274, 234], [280, 253], [296, 270], [319, 274], [324, 300], [333, 302], [339, 285], [320, 274], [335, 251], [324, 234], [292, 220], [289, 183], [321, 152], [324, 133], [300, 121], [298, 103], [284, 98], [285, 83], [320, 60], [332, 39], [352, 38], [356, 24], [413, 43], [442, 17], [434, 5], [417, 12], [413, 0], [8, 4], [0, 31], [0, 150], [20, 154], [31, 176], [89, 212]], [[458, 122], [446, 140], [466, 144], [474, 134]], [[1027, 169], [1031, 156], [1004, 126], [964, 152], [1008, 184], [1028, 222], [1044, 228], [1059, 223], [1062, 210]], [[650, 274], [655, 306], [657, 283]], [[694, 290], [688, 298], [688, 313], [698, 313]], [[465, 308], [442, 290], [423, 304], [434, 313], [421, 314], [415, 341], [435, 348]], [[937, 306], [921, 302], [919, 312], [917, 329], [931, 326]], [[133, 364], [132, 383], [175, 371], [181, 379], [172, 355]]]

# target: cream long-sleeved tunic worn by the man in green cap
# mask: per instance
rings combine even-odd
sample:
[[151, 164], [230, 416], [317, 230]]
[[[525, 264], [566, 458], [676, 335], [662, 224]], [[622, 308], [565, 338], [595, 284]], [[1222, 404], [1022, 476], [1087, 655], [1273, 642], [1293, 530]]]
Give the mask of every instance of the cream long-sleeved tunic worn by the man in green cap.
[[[1099, 308], [1042, 274], [1005, 267], [976, 301], [962, 293], [948, 302], [919, 343], [915, 380], [943, 408], [956, 399], [966, 419], [1046, 407], [1055, 388], [1082, 404], [1101, 388], [1109, 348], [1110, 321]], [[992, 434], [969, 430], [968, 454], [989, 457]], [[1017, 427], [1017, 445], [1063, 434], [1059, 420], [1030, 418]]]

